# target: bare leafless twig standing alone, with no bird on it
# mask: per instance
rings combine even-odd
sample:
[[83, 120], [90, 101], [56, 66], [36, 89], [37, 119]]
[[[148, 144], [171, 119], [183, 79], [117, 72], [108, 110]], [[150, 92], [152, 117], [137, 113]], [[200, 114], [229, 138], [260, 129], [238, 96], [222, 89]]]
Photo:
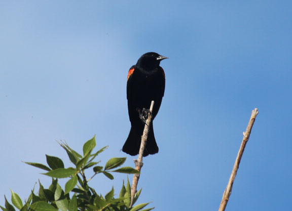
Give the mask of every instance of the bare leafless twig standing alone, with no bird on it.
[[253, 125], [253, 123], [255, 121], [255, 117], [257, 117], [258, 113], [259, 113], [259, 111], [258, 111], [257, 108], [255, 108], [251, 112], [251, 116], [250, 116], [250, 119], [249, 119], [249, 122], [248, 122], [248, 125], [247, 125], [247, 128], [246, 128], [246, 131], [243, 132], [242, 143], [241, 143], [240, 149], [238, 151], [238, 154], [237, 154], [234, 166], [233, 166], [233, 170], [232, 170], [232, 173], [230, 175], [229, 182], [228, 182], [227, 187], [226, 187], [226, 189], [225, 189], [225, 191], [223, 193], [223, 198], [222, 198], [222, 201], [221, 201], [221, 204], [220, 204], [220, 207], [219, 207], [218, 211], [224, 211], [225, 208], [226, 208], [227, 202], [228, 202], [229, 197], [231, 195], [233, 182], [234, 182], [234, 179], [235, 179], [238, 167], [239, 167], [239, 163], [240, 163], [240, 160], [241, 160], [245, 145], [246, 145], [246, 143], [247, 143], [247, 141], [249, 139], [249, 135], [251, 133], [252, 125]]

